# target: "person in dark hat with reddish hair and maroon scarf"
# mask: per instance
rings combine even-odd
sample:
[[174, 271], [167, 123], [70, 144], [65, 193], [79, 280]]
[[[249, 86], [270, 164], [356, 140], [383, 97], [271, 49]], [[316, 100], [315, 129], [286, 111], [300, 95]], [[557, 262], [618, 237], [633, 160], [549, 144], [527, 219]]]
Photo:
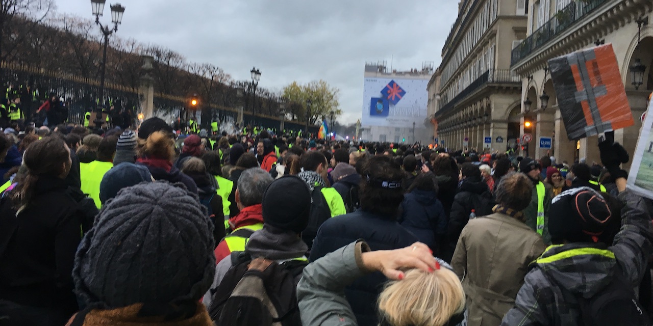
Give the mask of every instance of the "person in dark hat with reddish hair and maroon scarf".
[[193, 179], [183, 174], [172, 164], [174, 160], [174, 140], [170, 126], [165, 121], [153, 117], [143, 121], [138, 129], [136, 164], [144, 165], [150, 170], [155, 180], [171, 183], [183, 183], [186, 188], [197, 194], [197, 185]]

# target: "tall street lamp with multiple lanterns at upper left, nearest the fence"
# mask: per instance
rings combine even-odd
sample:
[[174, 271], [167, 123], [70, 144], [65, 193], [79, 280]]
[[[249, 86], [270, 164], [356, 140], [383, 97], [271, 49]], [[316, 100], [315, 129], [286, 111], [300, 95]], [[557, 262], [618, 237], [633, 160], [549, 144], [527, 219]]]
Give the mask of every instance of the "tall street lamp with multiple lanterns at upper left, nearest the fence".
[[125, 7], [121, 6], [119, 3], [111, 5], [111, 22], [114, 23], [114, 28], [110, 28], [109, 25], [103, 26], [100, 23], [100, 16], [104, 12], [104, 3], [106, 0], [91, 0], [91, 8], [93, 9], [93, 15], [95, 15], [95, 24], [100, 26], [100, 30], [104, 35], [104, 50], [103, 50], [103, 59], [102, 67], [100, 72], [100, 91], [98, 95], [99, 105], [96, 108], [95, 123], [96, 127], [101, 127], [103, 123], [102, 119], [102, 106], [104, 104], [104, 72], [106, 71], [106, 46], [109, 43], [109, 35], [112, 35], [114, 32], [118, 31], [118, 25], [122, 23], [122, 15], [125, 13]]

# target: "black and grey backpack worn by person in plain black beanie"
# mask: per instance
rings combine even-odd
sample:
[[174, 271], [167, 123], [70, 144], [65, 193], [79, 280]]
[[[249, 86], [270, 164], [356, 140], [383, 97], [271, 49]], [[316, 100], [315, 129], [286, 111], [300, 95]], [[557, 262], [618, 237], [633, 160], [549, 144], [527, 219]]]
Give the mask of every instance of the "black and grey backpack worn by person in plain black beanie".
[[[212, 291], [208, 308], [215, 325], [301, 326], [295, 279], [307, 261], [276, 263], [263, 258], [251, 260], [245, 252], [232, 252], [233, 266]], [[251, 269], [261, 264], [264, 270]]]

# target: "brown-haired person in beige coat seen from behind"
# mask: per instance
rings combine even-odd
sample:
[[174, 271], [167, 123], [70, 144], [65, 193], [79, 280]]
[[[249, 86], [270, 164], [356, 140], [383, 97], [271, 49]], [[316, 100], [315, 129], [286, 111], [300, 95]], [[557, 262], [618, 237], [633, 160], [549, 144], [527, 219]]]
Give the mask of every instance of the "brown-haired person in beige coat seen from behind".
[[521, 173], [505, 175], [495, 192], [499, 204], [494, 214], [470, 220], [460, 234], [451, 266], [463, 280], [470, 326], [501, 323], [524, 284], [526, 265], [546, 248], [524, 224], [522, 211], [530, 203], [532, 188]]

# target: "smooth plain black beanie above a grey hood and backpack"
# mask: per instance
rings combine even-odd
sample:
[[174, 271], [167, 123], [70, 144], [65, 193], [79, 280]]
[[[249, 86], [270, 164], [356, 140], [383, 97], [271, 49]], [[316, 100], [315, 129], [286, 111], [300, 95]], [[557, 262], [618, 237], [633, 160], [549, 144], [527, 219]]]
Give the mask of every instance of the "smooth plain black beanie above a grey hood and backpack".
[[311, 213], [311, 191], [295, 175], [273, 181], [263, 194], [263, 223], [302, 233]]

